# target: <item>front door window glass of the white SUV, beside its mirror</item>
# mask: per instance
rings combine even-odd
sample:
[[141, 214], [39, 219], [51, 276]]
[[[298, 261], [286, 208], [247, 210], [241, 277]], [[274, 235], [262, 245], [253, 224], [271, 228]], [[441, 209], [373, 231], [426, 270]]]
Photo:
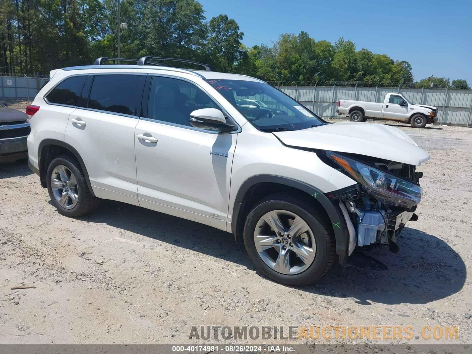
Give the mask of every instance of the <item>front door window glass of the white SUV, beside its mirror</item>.
[[170, 77], [153, 76], [149, 93], [148, 118], [191, 126], [190, 113], [219, 106], [194, 84]]

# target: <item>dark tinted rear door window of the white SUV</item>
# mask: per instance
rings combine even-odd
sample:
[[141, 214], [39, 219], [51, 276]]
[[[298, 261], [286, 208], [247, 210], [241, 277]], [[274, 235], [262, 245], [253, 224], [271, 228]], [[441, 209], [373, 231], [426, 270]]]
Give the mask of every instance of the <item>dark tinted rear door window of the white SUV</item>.
[[134, 116], [140, 80], [141, 75], [96, 75], [88, 107]]

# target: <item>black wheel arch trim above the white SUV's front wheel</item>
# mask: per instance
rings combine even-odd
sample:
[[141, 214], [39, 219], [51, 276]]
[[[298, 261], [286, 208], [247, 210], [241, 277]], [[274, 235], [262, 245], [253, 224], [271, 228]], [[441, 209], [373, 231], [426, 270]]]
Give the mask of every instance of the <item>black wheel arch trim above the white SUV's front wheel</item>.
[[347, 232], [346, 220], [343, 217], [341, 208], [339, 208], [339, 205], [337, 203], [331, 202], [329, 198], [324, 194], [324, 192], [322, 192], [320, 189], [289, 177], [282, 177], [276, 175], [256, 175], [253, 177], [249, 177], [243, 182], [236, 194], [236, 199], [233, 207], [233, 215], [231, 219], [231, 232], [235, 236], [235, 240], [237, 241], [237, 220], [239, 212], [241, 211], [244, 195], [253, 185], [264, 182], [278, 183], [281, 185], [294, 187], [315, 198], [328, 214], [336, 239], [336, 253], [339, 256], [339, 262], [341, 264], [345, 263], [347, 258], [347, 244], [349, 241], [349, 234]]

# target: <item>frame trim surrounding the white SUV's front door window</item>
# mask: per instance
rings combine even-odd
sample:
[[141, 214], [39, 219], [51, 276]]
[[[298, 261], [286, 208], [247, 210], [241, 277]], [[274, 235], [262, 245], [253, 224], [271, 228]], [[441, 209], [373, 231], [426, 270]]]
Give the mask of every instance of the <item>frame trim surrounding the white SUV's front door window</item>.
[[[147, 120], [147, 121], [155, 122], [155, 123], [160, 123], [160, 124], [166, 124], [166, 125], [169, 125], [169, 126], [177, 126], [177, 127], [184, 128], [184, 129], [196, 130], [196, 131], [204, 132], [204, 133], [208, 133], [208, 134], [236, 134], [236, 133], [241, 133], [242, 132], [241, 126], [239, 126], [239, 124], [237, 124], [236, 120], [233, 119], [233, 117], [231, 117], [231, 115], [228, 113], [228, 111], [225, 110], [223, 107], [221, 107], [219, 102], [210, 93], [208, 93], [207, 90], [205, 90], [200, 85], [194, 83], [191, 80], [187, 80], [183, 77], [176, 77], [176, 76], [164, 75], [164, 74], [147, 74], [147, 76], [148, 76], [148, 78], [146, 79], [146, 83], [144, 85], [143, 102], [142, 102], [142, 110], [141, 110], [141, 112], [144, 113], [145, 115], [139, 117], [139, 119], [143, 119], [143, 120]], [[216, 103], [216, 105], [219, 107], [219, 109], [223, 112], [224, 116], [228, 117], [228, 119], [230, 119], [231, 122], [235, 126], [238, 127], [238, 129], [233, 131], [233, 132], [220, 133], [220, 132], [212, 132], [212, 131], [205, 130], [205, 129], [195, 128], [194, 126], [184, 126], [184, 125], [181, 125], [181, 124], [167, 122], [167, 121], [164, 121], [164, 120], [149, 118], [148, 113], [149, 113], [149, 103], [150, 103], [150, 96], [151, 96], [151, 82], [152, 82], [152, 77], [154, 77], [154, 76], [168, 77], [168, 78], [175, 79], [175, 80], [181, 80], [181, 81], [192, 84], [195, 87], [199, 88], [204, 93], [206, 93]]]

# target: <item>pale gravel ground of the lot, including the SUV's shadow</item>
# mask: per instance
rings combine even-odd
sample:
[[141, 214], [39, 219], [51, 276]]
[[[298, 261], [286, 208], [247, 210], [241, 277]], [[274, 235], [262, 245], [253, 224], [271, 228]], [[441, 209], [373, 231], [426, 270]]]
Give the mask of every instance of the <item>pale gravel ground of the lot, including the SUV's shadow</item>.
[[[431, 154], [419, 220], [399, 253], [372, 251], [388, 271], [337, 264], [303, 288], [263, 278], [232, 235], [191, 221], [112, 201], [61, 216], [26, 165], [0, 164], [0, 343], [205, 343], [188, 339], [193, 325], [455, 325], [471, 344], [472, 129], [393, 125]], [[25, 285], [36, 288], [10, 289]]]

